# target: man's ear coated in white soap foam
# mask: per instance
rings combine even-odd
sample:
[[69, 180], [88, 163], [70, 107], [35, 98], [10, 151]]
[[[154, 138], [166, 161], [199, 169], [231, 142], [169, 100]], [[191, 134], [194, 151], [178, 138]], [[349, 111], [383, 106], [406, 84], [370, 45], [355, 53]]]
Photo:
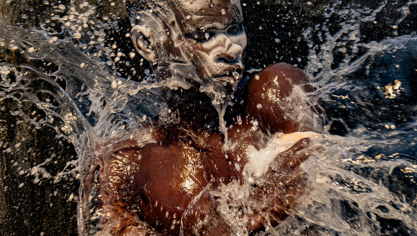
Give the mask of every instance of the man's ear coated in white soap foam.
[[156, 52], [151, 40], [151, 30], [144, 25], [135, 25], [131, 30], [131, 40], [139, 54], [149, 62], [156, 62]]

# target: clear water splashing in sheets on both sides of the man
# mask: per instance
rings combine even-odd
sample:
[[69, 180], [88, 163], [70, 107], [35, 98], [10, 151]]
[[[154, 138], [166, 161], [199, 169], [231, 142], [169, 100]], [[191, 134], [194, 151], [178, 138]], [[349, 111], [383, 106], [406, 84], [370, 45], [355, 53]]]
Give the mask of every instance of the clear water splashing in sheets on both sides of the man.
[[[245, 211], [251, 210], [245, 203], [251, 185], [266, 171], [276, 153], [305, 136], [314, 136], [311, 149], [317, 146], [324, 149], [321, 153], [314, 152], [302, 164], [308, 178], [308, 194], [302, 196], [297, 209], [283, 223], [275, 228], [266, 227], [266, 234], [299, 235], [306, 229], [314, 229], [321, 235], [417, 234], [414, 220], [417, 219], [414, 151], [417, 129], [415, 118], [409, 115], [414, 114], [417, 106], [405, 108], [412, 84], [406, 72], [398, 73], [407, 65], [402, 58], [404, 51], [417, 56], [417, 38], [397, 36], [398, 25], [417, 1], [396, 6], [400, 16], [391, 26], [394, 37], [368, 42], [364, 37], [368, 32], [360, 31], [361, 24], [377, 24], [376, 15], [388, 4], [383, 1], [375, 9], [355, 10], [350, 7], [336, 10], [329, 5], [323, 14], [326, 18], [341, 19], [337, 30], [335, 26], [330, 29], [325, 21], [299, 35], [309, 49], [304, 70], [316, 87], [306, 97], [315, 97], [312, 107], [321, 105], [326, 109], [329, 117], [324, 127], [326, 132], [294, 134], [287, 139], [279, 134], [270, 140], [267, 148], [254, 149], [249, 154], [244, 169], [247, 184], [242, 187], [232, 182], [216, 193], [220, 211], [234, 226], [234, 234], [247, 233], [244, 227], [239, 227], [247, 219], [241, 219], [238, 214], [242, 205]], [[94, 166], [91, 157], [97, 154], [97, 145], [133, 136], [141, 137], [140, 142], [152, 142], [142, 124], [160, 112], [170, 113], [155, 89], [168, 84], [155, 82], [149, 70], [145, 70], [143, 79], [123, 77], [120, 67], [115, 66], [124, 63], [129, 67], [128, 60], [123, 58], [141, 59], [133, 51], [122, 52], [117, 44], [104, 43], [104, 29], [114, 22], [96, 17], [96, 7], [87, 2], [63, 8], [66, 9], [63, 14], [55, 17], [63, 25], [60, 34], [0, 25], [0, 46], [10, 50], [11, 55], [34, 62], [31, 65], [1, 63], [0, 102], [14, 102], [16, 106], [10, 114], [35, 127], [53, 128], [77, 153], [77, 158], [66, 160], [65, 167], [57, 172], [46, 167], [55, 161], [53, 155], [40, 164], [22, 169], [33, 176], [34, 183], [52, 179], [57, 184], [70, 175], [85, 178]], [[387, 67], [379, 72], [384, 72], [385, 77], [372, 70], [384, 63]], [[126, 72], [129, 73], [138, 72], [132, 68]], [[33, 110], [26, 108], [28, 103], [34, 105]], [[216, 109], [227, 151], [231, 144], [223, 119], [226, 106], [218, 105]], [[348, 112], [338, 113], [342, 110]], [[393, 117], [393, 111], [398, 110], [403, 116]], [[366, 120], [357, 118], [364, 114]], [[22, 142], [25, 141], [3, 144], [3, 153], [17, 151]], [[94, 232], [90, 226], [94, 221], [90, 219], [89, 201], [94, 182], [91, 184], [92, 189], [82, 184], [78, 195], [80, 235]], [[71, 195], [70, 201], [73, 198]]]

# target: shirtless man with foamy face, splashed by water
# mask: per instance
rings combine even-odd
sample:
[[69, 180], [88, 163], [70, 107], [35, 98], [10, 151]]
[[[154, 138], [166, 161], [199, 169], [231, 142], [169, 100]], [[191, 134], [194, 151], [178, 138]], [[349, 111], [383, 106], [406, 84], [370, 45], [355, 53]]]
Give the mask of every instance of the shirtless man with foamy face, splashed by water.
[[246, 47], [239, 0], [126, 3], [136, 50], [151, 63], [156, 80], [167, 82], [160, 88], [167, 109], [145, 124], [151, 142], [134, 135], [100, 147], [82, 189], [88, 195], [98, 173], [92, 199], [98, 231], [231, 235], [233, 227], [249, 234], [278, 224], [304, 192], [298, 166], [309, 155], [309, 139], [277, 153], [263, 181], [250, 182], [250, 207], [243, 206], [239, 216], [246, 219], [243, 226], [226, 222], [213, 192], [247, 182], [249, 147], [266, 147], [277, 132], [320, 130], [302, 96], [312, 90], [308, 77], [277, 63], [238, 86]]

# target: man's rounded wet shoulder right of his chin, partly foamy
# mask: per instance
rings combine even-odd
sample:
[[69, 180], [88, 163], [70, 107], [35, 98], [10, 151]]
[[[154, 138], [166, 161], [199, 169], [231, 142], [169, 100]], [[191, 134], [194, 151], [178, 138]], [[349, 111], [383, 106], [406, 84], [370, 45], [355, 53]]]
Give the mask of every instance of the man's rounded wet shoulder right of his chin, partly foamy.
[[269, 65], [254, 75], [247, 86], [248, 119], [256, 119], [265, 133], [316, 131], [304, 92], [312, 92], [309, 78], [286, 63]]

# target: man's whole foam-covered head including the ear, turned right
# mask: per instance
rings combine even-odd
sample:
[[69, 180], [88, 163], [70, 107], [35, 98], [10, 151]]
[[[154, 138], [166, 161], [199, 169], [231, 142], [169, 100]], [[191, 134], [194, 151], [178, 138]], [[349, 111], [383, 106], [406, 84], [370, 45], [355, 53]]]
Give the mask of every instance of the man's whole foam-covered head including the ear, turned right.
[[239, 0], [127, 2], [133, 44], [161, 79], [197, 87], [217, 102], [233, 94], [246, 47]]

